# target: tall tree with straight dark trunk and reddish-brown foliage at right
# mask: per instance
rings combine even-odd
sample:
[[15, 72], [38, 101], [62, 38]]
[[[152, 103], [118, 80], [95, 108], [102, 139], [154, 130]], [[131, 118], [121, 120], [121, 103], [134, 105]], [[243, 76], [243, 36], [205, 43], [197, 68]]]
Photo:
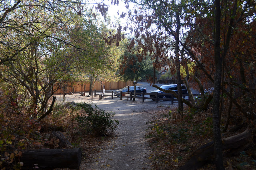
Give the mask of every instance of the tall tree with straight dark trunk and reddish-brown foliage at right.
[[[255, 2], [234, 0], [222, 1], [220, 4], [219, 1], [177, 1], [178, 6], [175, 6], [174, 1], [170, 3], [166, 0], [133, 2], [139, 4], [141, 9], [146, 8], [152, 14], [156, 14], [156, 17], [152, 17], [151, 23], [158, 23], [157, 26], [166, 30], [166, 34], [173, 36], [182, 45], [184, 48], [182, 53], [186, 54], [186, 57], [191, 57], [196, 63], [194, 70], [198, 73], [195, 72], [194, 77], [200, 87], [202, 83], [198, 78], [206, 82], [204, 87], [214, 84], [213, 130], [216, 161], [219, 162], [219, 165], [216, 163], [216, 167], [223, 168], [219, 125], [223, 94], [226, 93], [230, 101], [248, 120], [256, 117], [255, 112], [252, 111], [255, 103], [255, 81], [250, 81], [250, 79], [255, 80], [254, 66], [249, 64], [255, 61], [252, 50], [255, 45], [250, 43], [255, 37], [252, 33], [255, 28]], [[176, 7], [179, 9], [177, 10], [180, 14], [179, 18], [174, 14]], [[137, 12], [137, 18], [148, 17], [143, 15], [143, 12], [145, 11]], [[190, 31], [186, 34], [187, 38], [178, 36], [174, 30], [179, 20], [182, 22], [181, 30], [190, 27]], [[146, 27], [146, 25], [141, 26], [140, 30]], [[209, 80], [211, 83], [208, 83]], [[235, 93], [230, 90], [233, 86], [237, 90]], [[203, 94], [204, 89], [200, 88], [200, 91]], [[211, 98], [206, 100], [208, 99]], [[248, 102], [245, 102], [245, 99]]]

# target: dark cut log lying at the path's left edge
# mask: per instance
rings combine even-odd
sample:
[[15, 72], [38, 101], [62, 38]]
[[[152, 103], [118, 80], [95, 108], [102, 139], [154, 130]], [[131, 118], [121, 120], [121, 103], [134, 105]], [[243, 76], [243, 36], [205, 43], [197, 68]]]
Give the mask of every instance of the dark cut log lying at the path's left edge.
[[22, 169], [79, 169], [81, 160], [81, 148], [23, 150], [20, 158]]

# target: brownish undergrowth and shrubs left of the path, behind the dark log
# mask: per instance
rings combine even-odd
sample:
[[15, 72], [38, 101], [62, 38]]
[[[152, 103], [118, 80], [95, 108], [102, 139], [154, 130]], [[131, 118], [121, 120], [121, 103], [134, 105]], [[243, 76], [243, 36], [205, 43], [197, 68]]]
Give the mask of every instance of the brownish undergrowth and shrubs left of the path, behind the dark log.
[[20, 150], [59, 148], [59, 141], [49, 137], [53, 130], [61, 131], [73, 146], [87, 150], [82, 140], [90, 138], [89, 143], [94, 138], [100, 143], [102, 138], [114, 134], [118, 125], [118, 121], [111, 119], [114, 113], [74, 102], [55, 105], [52, 114], [39, 122], [22, 111], [20, 97], [13, 92], [10, 89], [0, 93], [1, 169], [22, 168]]

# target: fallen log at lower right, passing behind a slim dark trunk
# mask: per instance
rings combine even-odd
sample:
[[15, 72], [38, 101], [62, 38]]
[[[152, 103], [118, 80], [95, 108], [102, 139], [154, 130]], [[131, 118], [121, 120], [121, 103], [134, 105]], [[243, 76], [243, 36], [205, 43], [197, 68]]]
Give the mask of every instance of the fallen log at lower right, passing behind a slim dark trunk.
[[[246, 144], [248, 144], [253, 136], [253, 130], [247, 128], [244, 132], [237, 134], [235, 136], [230, 136], [228, 138], [222, 139], [222, 149], [237, 149]], [[214, 142], [209, 142], [204, 144], [200, 148], [198, 148], [193, 156], [184, 164], [184, 166], [180, 167], [180, 170], [196, 170], [204, 166], [204, 164], [208, 163], [214, 156]]]

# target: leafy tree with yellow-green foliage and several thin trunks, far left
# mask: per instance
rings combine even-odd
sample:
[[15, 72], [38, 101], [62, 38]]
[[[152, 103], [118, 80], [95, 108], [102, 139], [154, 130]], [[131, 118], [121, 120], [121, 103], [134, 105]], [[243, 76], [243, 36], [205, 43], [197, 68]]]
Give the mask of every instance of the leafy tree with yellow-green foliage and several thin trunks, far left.
[[36, 118], [46, 111], [54, 83], [103, 67], [104, 40], [91, 18], [82, 16], [90, 12], [81, 3], [25, 0], [13, 6], [1, 19], [1, 76], [26, 89], [28, 112]]

